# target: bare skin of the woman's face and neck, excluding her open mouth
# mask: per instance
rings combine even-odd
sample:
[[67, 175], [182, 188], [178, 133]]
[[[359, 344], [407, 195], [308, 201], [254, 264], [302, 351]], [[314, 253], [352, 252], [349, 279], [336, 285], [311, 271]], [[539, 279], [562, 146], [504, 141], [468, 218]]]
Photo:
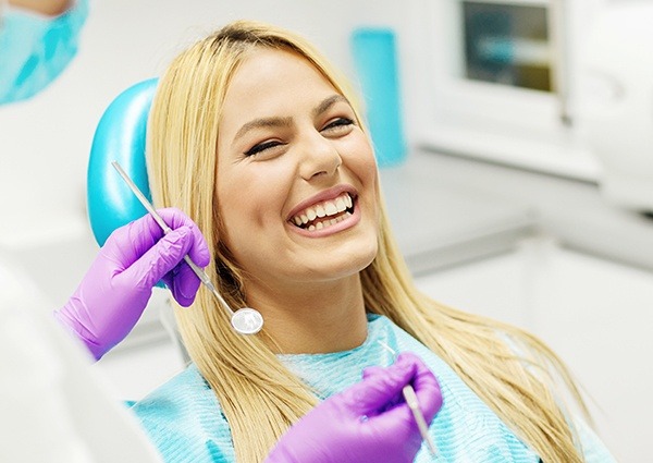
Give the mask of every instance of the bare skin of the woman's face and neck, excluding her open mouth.
[[[349, 103], [301, 57], [260, 49], [232, 80], [219, 133], [223, 239], [246, 271], [247, 302], [263, 315], [272, 348], [360, 345], [367, 320], [359, 271], [378, 249], [379, 185]], [[342, 190], [356, 196], [343, 222], [308, 232], [288, 220]]]

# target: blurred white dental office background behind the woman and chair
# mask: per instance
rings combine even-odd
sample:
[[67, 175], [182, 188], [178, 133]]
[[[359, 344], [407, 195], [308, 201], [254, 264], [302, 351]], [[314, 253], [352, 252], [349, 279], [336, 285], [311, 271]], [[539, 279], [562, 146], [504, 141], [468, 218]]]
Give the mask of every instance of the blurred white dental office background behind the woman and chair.
[[[98, 251], [86, 169], [102, 112], [235, 19], [305, 35], [360, 90], [420, 288], [541, 337], [617, 459], [650, 459], [650, 0], [91, 0], [62, 76], [0, 107], [0, 251], [52, 308]], [[157, 290], [94, 368], [141, 398], [183, 367], [170, 327]]]

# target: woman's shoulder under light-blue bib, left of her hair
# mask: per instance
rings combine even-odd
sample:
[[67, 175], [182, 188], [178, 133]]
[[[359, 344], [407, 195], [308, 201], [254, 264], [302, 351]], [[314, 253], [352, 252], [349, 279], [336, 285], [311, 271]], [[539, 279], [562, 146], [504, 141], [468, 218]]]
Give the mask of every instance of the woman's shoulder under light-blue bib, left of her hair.
[[167, 462], [233, 460], [226, 418], [194, 365], [136, 402], [132, 410]]

